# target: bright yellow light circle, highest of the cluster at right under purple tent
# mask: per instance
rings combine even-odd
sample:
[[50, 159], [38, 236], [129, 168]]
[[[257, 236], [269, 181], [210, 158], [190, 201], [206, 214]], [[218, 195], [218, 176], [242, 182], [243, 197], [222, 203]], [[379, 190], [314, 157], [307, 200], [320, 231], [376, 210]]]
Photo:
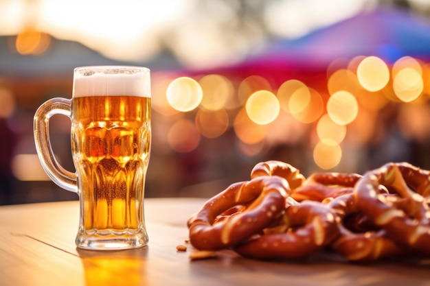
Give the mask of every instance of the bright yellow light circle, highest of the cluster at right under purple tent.
[[357, 78], [367, 91], [380, 91], [389, 81], [389, 69], [381, 58], [370, 56], [357, 67]]

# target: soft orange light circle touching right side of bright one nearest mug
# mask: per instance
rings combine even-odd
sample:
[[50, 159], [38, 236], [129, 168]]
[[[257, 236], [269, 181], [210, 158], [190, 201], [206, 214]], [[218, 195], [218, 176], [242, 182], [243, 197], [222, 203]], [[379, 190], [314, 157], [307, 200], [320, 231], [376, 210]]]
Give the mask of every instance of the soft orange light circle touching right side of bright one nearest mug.
[[227, 100], [233, 96], [233, 84], [223, 75], [205, 75], [199, 84], [203, 90], [201, 106], [206, 110], [225, 108]]

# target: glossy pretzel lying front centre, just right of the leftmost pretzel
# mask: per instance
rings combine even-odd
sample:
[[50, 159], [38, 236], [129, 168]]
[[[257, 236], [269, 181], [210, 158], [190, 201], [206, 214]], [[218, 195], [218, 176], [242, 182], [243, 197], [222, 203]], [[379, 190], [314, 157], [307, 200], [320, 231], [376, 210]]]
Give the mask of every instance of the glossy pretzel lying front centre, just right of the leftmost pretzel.
[[256, 235], [234, 250], [256, 259], [304, 259], [328, 246], [339, 235], [335, 214], [320, 202], [288, 206], [284, 216], [286, 232]]

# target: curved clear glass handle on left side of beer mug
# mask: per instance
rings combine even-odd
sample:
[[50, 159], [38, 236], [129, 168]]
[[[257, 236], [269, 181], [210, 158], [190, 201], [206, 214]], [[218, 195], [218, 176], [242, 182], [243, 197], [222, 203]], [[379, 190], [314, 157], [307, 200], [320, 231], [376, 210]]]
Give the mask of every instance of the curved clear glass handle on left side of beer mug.
[[51, 142], [49, 141], [49, 119], [58, 114], [65, 115], [71, 119], [70, 99], [52, 98], [36, 110], [33, 122], [36, 151], [49, 178], [63, 189], [78, 193], [76, 173], [67, 171], [60, 166], [52, 152]]

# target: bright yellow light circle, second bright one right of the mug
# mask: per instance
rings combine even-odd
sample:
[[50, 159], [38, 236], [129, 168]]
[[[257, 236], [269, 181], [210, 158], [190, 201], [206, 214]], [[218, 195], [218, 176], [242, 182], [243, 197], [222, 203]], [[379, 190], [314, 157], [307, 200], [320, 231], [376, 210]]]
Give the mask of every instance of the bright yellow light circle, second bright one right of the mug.
[[245, 108], [249, 119], [260, 125], [271, 123], [280, 112], [278, 97], [270, 91], [253, 93], [248, 98]]

